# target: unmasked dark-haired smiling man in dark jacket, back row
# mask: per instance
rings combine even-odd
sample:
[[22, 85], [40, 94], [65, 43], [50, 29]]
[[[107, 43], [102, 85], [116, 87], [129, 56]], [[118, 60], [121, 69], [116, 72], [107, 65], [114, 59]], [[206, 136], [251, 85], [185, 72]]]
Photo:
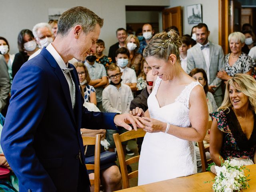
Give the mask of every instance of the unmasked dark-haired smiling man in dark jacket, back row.
[[127, 32], [124, 28], [118, 28], [116, 30], [116, 38], [118, 39], [118, 42], [114, 45], [110, 46], [108, 51], [108, 57], [112, 58], [112, 61], [116, 63], [116, 50], [120, 47], [125, 47], [125, 40], [127, 38]]

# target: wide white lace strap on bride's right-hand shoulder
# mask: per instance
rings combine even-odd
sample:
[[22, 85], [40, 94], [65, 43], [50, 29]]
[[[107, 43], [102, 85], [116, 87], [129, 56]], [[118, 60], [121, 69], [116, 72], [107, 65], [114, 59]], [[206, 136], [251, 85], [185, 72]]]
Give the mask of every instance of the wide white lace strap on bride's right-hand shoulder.
[[193, 81], [190, 84], [188, 84], [184, 90], [182, 90], [181, 94], [176, 98], [176, 102], [183, 103], [186, 108], [189, 108], [189, 98], [190, 93], [194, 89], [195, 86], [200, 85], [202, 86], [198, 81]]

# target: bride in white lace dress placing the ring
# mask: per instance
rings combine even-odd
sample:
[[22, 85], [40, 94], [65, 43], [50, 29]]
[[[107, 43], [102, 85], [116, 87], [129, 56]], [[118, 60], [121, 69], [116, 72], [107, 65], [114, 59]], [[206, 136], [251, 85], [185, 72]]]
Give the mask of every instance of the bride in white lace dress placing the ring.
[[143, 56], [156, 75], [148, 110], [132, 112], [147, 131], [142, 143], [138, 185], [197, 172], [193, 141], [202, 141], [208, 123], [204, 89], [180, 66], [180, 37], [156, 34]]

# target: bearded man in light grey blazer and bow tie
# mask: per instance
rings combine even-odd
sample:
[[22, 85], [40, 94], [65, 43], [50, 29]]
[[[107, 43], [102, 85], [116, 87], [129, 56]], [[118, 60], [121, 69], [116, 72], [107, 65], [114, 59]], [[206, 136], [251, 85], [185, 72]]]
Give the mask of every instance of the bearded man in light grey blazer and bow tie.
[[188, 49], [187, 72], [194, 68], [205, 70], [208, 78], [209, 91], [213, 93], [217, 106], [222, 103], [221, 79], [217, 72], [224, 68], [224, 53], [222, 47], [208, 41], [210, 31], [204, 23], [196, 26], [197, 44]]

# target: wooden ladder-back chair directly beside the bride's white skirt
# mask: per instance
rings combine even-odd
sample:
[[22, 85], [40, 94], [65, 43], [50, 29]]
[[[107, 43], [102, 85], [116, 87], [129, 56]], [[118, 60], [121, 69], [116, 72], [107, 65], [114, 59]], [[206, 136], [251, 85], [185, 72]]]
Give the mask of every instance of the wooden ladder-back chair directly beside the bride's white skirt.
[[129, 179], [138, 177], [138, 170], [135, 170], [128, 174], [126, 166], [129, 164], [138, 162], [140, 156], [139, 155], [134, 156], [132, 158], [125, 160], [124, 150], [122, 148], [121, 142], [130, 140], [130, 139], [134, 139], [134, 138], [144, 137], [145, 134], [146, 134], [146, 132], [143, 129], [138, 129], [137, 131], [131, 130], [131, 131], [125, 132], [121, 135], [119, 135], [118, 133], [113, 134], [114, 142], [116, 144], [116, 151], [118, 154], [118, 160], [120, 163], [121, 174], [122, 174], [122, 184], [123, 184], [124, 189], [130, 187]]

